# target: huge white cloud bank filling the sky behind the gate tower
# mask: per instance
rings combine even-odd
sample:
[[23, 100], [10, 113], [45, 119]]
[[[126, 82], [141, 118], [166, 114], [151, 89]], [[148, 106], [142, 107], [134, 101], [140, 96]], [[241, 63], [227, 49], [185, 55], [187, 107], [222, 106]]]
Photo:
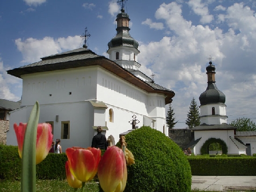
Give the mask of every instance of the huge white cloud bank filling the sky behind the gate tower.
[[[175, 2], [160, 5], [155, 17], [164, 20], [172, 36], [164, 36], [159, 42], [140, 43], [138, 62], [148, 76], [152, 72], [160, 74], [155, 77], [157, 84], [175, 92], [172, 106], [179, 121], [185, 122], [193, 97], [200, 105], [199, 96], [207, 87], [209, 55], [214, 57], [216, 85], [226, 95], [227, 115], [255, 113], [256, 19], [253, 10], [235, 3], [226, 14], [219, 14], [218, 20], [229, 26], [227, 32], [218, 27], [193, 25], [184, 19], [181, 5]], [[184, 124], [178, 123], [175, 128], [185, 128]]]

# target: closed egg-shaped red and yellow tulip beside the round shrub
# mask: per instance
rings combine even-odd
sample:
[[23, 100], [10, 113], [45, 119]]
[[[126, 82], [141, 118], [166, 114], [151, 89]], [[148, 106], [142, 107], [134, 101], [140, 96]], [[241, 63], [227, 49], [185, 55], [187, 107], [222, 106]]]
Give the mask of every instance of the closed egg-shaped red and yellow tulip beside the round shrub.
[[126, 158], [117, 146], [108, 147], [98, 166], [100, 187], [105, 192], [125, 190], [127, 181]]

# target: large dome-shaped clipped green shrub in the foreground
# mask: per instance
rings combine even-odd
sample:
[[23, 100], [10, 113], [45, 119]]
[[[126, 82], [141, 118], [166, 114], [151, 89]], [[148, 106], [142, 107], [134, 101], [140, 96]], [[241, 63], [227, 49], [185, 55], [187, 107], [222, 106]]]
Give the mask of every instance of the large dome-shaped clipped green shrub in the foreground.
[[127, 166], [125, 191], [191, 191], [187, 157], [169, 137], [145, 126], [125, 137], [135, 158], [135, 164]]

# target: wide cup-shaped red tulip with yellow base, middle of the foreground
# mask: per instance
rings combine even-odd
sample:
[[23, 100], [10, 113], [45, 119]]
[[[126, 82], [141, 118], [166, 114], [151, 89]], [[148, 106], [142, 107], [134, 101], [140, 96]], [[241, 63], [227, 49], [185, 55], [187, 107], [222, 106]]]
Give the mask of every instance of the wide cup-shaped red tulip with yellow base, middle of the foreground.
[[101, 158], [100, 149], [70, 147], [66, 150], [66, 153], [70, 172], [76, 179], [87, 182], [94, 178]]

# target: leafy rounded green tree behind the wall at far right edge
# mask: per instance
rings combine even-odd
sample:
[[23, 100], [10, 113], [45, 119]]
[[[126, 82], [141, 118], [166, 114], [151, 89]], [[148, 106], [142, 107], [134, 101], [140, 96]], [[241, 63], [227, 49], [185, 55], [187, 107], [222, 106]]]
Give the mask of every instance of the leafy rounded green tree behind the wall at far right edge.
[[237, 131], [256, 131], [255, 123], [251, 119], [245, 117], [232, 121], [230, 124], [236, 127]]

